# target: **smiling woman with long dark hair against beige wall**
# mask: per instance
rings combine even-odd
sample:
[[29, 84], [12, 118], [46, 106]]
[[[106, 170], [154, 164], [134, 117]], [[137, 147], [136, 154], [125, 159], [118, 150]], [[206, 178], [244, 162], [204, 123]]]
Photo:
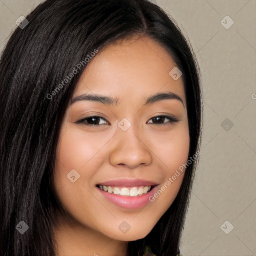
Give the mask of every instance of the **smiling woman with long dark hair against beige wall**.
[[147, 0], [46, 0], [0, 63], [0, 254], [180, 253], [198, 67]]

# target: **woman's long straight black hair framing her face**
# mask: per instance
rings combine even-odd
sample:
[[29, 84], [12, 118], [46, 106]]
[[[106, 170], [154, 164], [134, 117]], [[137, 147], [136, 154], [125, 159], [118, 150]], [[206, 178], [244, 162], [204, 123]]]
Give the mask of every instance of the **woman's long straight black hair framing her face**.
[[[63, 208], [52, 174], [64, 114], [86, 64], [47, 96], [95, 49], [145, 34], [158, 41], [182, 71], [189, 122], [189, 157], [200, 147], [201, 89], [196, 59], [177, 25], [147, 0], [46, 0], [17, 27], [0, 61], [0, 255], [53, 256], [53, 226]], [[84, 63], [84, 62], [83, 62]], [[49, 99], [50, 98], [50, 99]], [[128, 255], [149, 245], [157, 256], [179, 252], [196, 161], [153, 230], [129, 242]], [[16, 225], [24, 221], [24, 234]]]

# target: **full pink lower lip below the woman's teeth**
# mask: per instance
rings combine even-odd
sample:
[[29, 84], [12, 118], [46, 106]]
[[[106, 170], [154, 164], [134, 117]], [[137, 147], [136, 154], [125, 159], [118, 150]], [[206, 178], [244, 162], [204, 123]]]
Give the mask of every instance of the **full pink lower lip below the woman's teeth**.
[[115, 205], [124, 209], [139, 209], [145, 207], [150, 201], [149, 197], [152, 196], [158, 186], [155, 186], [150, 192], [138, 195], [138, 196], [125, 196], [117, 195], [113, 193], [108, 193], [100, 188], [97, 189], [104, 195], [109, 201], [113, 202]]

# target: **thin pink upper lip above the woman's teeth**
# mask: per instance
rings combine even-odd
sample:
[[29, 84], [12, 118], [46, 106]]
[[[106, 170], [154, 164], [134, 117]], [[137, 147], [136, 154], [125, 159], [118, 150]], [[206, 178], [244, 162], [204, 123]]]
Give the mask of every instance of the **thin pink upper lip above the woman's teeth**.
[[146, 179], [115, 179], [108, 180], [97, 185], [105, 185], [105, 186], [154, 186], [158, 185], [154, 181], [146, 180]]

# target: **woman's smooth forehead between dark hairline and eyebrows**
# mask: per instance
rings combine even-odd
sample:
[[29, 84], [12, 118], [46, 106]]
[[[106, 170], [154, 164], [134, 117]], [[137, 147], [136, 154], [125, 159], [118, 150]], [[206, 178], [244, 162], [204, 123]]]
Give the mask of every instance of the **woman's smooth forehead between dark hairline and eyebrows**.
[[141, 102], [148, 95], [170, 91], [185, 102], [182, 77], [174, 80], [169, 74], [175, 67], [172, 56], [150, 37], [123, 39], [90, 60], [74, 96], [90, 92]]

